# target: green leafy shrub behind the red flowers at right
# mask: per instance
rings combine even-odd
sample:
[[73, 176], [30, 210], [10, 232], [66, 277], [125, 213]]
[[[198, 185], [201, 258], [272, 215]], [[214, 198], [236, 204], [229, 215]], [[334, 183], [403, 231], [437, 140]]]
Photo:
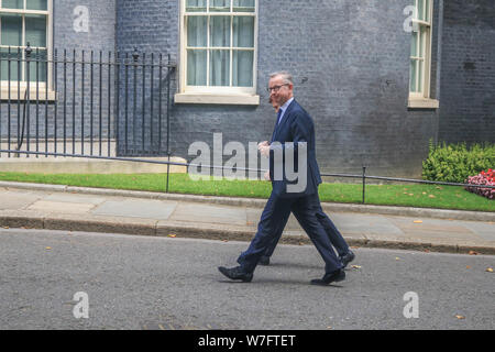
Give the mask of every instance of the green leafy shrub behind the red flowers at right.
[[422, 162], [422, 178], [448, 183], [464, 183], [469, 176], [495, 168], [495, 144], [465, 143], [433, 145]]

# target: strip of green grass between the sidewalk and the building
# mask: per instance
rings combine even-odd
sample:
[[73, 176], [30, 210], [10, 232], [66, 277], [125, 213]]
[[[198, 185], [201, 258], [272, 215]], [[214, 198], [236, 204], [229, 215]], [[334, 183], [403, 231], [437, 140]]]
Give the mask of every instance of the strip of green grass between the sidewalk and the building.
[[[166, 174], [30, 174], [1, 173], [0, 180], [165, 191]], [[177, 194], [267, 198], [272, 190], [262, 180], [191, 180], [187, 174], [170, 174], [168, 190]], [[362, 185], [322, 184], [320, 199], [330, 202], [361, 204]], [[436, 185], [366, 185], [366, 205], [495, 211], [495, 201], [462, 187]]]

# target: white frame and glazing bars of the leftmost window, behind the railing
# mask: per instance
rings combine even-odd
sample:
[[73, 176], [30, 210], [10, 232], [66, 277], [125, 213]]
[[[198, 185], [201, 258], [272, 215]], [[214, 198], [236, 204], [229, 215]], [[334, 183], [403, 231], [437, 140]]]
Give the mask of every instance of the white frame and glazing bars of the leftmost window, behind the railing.
[[[53, 81], [53, 63], [52, 63], [52, 58], [53, 58], [53, 0], [47, 0], [47, 9], [46, 10], [26, 10], [26, 0], [24, 1], [24, 7], [23, 9], [3, 9], [2, 8], [2, 1], [0, 0], [0, 13], [12, 13], [12, 14], [21, 14], [21, 15], [25, 15], [25, 14], [40, 14], [40, 15], [45, 15], [46, 16], [46, 47], [44, 50], [46, 50], [46, 62], [47, 62], [47, 70], [46, 70], [46, 81], [42, 81], [40, 80], [37, 82], [37, 90], [36, 90], [36, 81], [30, 81], [29, 86], [30, 86], [30, 99], [33, 99], [33, 97], [36, 96], [36, 92], [38, 94], [38, 99], [43, 100], [46, 99], [46, 90], [48, 90], [48, 100], [53, 100], [55, 97], [54, 94], [54, 81]], [[23, 35], [25, 35], [25, 20], [22, 21], [22, 25], [23, 25]], [[1, 24], [1, 22], [0, 22]], [[23, 38], [25, 41], [25, 37]], [[28, 43], [23, 43], [23, 45], [21, 46], [10, 46], [12, 48], [12, 53], [15, 54], [18, 51], [18, 47], [21, 48], [21, 51], [25, 51], [26, 48], [26, 44]], [[9, 45], [1, 45], [0, 44], [0, 48], [8, 48]], [[31, 54], [32, 57], [34, 57], [33, 55], [35, 55], [36, 53], [36, 46], [32, 46], [33, 52]], [[24, 53], [22, 53], [22, 66], [25, 65], [25, 57], [24, 57]], [[12, 61], [12, 63], [14, 63], [16, 61], [16, 58], [14, 61]], [[6, 63], [6, 62], [3, 62]], [[30, 67], [34, 67], [35, 61], [32, 62], [32, 64], [30, 65]], [[25, 67], [21, 68], [21, 72], [23, 75], [25, 75]], [[24, 77], [25, 78], [25, 77]], [[24, 99], [24, 92], [28, 89], [28, 80], [11, 80], [10, 81], [10, 86], [9, 86], [9, 80], [8, 77], [1, 77], [1, 81], [0, 81], [0, 86], [1, 86], [1, 99], [8, 99], [9, 97], [9, 91], [10, 91], [10, 99], [12, 100], [18, 100]], [[18, 87], [19, 86], [19, 87]], [[18, 90], [21, 94], [21, 97], [18, 97]]]

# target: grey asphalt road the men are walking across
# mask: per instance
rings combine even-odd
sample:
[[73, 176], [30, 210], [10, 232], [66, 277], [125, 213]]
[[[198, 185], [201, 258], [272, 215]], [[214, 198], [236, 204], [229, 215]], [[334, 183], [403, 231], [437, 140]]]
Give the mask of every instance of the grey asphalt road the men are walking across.
[[279, 245], [252, 283], [228, 280], [217, 266], [246, 246], [0, 229], [0, 329], [495, 328], [495, 256], [354, 249], [346, 279], [318, 287], [316, 249]]

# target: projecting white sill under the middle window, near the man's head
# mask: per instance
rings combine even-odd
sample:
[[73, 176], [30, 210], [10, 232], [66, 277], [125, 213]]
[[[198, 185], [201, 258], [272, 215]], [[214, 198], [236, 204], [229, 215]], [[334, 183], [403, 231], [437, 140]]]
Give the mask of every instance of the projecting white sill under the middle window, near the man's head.
[[175, 103], [211, 103], [211, 105], [237, 105], [237, 106], [258, 106], [257, 95], [221, 95], [221, 94], [199, 94], [182, 92], [174, 96]]

